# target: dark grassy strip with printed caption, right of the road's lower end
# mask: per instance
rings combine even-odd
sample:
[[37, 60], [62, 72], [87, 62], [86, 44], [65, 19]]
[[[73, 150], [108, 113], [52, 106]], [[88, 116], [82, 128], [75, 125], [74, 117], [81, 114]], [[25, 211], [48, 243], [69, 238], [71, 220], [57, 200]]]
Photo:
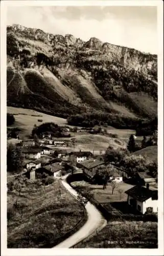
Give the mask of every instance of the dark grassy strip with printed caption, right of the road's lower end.
[[157, 248], [157, 226], [156, 222], [108, 222], [96, 236], [76, 248]]

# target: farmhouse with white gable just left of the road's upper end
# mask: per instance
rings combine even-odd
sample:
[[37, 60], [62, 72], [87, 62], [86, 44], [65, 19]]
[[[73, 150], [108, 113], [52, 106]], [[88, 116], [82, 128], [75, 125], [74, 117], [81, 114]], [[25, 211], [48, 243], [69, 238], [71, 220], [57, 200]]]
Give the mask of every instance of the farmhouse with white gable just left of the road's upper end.
[[45, 174], [48, 174], [53, 177], [60, 177], [61, 171], [63, 169], [64, 169], [64, 167], [62, 165], [57, 164], [57, 163], [52, 163], [52, 164], [45, 165], [41, 168], [38, 168], [36, 170], [36, 172], [39, 174], [45, 173]]

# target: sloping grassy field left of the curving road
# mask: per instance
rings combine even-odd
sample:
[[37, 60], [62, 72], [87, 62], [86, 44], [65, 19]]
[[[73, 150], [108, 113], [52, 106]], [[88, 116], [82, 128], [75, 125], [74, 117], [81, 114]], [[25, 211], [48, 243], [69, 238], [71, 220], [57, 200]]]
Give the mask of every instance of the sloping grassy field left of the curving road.
[[[59, 194], [60, 191], [60, 194]], [[84, 208], [55, 181], [38, 190], [27, 185], [8, 192], [8, 248], [39, 248], [55, 242], [84, 216]], [[14, 208], [13, 203], [26, 206]], [[12, 209], [12, 213], [11, 213]]]

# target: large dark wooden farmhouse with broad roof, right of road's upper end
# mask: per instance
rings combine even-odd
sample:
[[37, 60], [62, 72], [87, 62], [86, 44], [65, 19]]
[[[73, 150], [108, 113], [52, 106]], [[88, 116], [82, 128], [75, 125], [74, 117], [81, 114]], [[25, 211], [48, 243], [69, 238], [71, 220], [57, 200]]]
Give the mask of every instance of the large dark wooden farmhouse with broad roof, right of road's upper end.
[[95, 174], [97, 173], [97, 170], [102, 165], [104, 165], [104, 161], [101, 161], [99, 159], [93, 159], [93, 158], [79, 163], [79, 166], [81, 166], [83, 173], [89, 179], [92, 179], [95, 176]]

